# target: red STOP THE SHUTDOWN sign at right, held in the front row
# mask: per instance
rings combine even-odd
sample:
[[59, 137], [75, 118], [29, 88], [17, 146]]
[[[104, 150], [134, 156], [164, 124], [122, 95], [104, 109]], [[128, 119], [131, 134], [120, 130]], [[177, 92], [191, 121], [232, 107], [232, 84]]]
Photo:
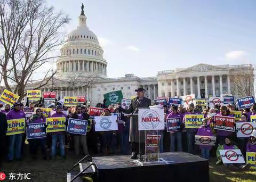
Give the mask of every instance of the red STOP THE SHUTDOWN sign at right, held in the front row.
[[214, 115], [214, 129], [235, 132], [235, 117], [226, 117], [223, 115]]

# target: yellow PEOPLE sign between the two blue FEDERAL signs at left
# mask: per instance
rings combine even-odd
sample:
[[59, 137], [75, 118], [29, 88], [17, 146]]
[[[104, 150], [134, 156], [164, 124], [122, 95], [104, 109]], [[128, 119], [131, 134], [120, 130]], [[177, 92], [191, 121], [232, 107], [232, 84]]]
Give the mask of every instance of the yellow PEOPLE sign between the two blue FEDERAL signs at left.
[[46, 133], [66, 131], [66, 117], [46, 118]]

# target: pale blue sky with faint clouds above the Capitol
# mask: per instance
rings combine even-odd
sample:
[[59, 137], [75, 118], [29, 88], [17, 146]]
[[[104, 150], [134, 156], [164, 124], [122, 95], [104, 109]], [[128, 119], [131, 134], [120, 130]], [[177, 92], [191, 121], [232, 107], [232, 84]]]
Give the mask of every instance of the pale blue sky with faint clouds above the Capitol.
[[198, 63], [256, 64], [256, 1], [48, 0], [76, 28], [81, 4], [107, 75], [156, 76]]

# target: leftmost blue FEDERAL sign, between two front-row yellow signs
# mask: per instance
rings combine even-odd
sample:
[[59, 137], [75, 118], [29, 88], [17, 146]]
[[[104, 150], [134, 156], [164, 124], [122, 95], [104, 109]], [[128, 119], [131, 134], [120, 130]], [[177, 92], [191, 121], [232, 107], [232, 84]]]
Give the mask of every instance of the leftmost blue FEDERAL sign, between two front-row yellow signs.
[[27, 125], [27, 139], [45, 138], [45, 123], [29, 123]]

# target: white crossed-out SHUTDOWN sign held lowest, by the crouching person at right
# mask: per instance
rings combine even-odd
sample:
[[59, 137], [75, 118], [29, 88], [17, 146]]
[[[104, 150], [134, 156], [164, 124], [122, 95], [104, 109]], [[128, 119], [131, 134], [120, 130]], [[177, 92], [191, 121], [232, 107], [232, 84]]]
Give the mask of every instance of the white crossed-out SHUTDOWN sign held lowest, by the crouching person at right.
[[224, 164], [245, 163], [241, 150], [220, 150], [221, 160]]

